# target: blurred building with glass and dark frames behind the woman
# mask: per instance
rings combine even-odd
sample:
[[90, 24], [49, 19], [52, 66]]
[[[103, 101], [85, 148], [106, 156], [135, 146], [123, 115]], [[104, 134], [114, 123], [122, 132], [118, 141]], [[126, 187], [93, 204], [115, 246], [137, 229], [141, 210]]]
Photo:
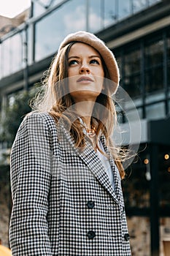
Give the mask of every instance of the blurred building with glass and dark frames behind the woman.
[[[0, 17], [1, 240], [8, 243], [12, 204], [9, 150], [18, 129], [15, 116], [20, 113], [20, 122], [28, 110], [23, 105], [17, 108], [16, 102], [23, 100], [27, 105], [27, 97], [49, 67], [61, 40], [77, 30], [93, 32], [113, 50], [120, 67], [120, 85], [133, 99], [141, 119], [139, 158], [128, 167], [123, 182], [132, 255], [166, 256], [170, 241], [168, 0], [33, 0], [18, 17]], [[125, 113], [135, 127], [134, 108], [128, 103], [125, 101]], [[117, 110], [125, 125], [124, 111], [119, 106]]]

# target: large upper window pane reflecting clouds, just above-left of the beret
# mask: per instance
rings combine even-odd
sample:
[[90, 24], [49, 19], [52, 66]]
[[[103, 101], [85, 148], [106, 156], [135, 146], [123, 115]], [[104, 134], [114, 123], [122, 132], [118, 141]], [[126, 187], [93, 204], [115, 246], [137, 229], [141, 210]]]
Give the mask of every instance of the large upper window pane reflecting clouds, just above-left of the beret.
[[85, 30], [85, 0], [69, 1], [36, 23], [36, 61], [55, 53], [63, 37], [77, 30]]

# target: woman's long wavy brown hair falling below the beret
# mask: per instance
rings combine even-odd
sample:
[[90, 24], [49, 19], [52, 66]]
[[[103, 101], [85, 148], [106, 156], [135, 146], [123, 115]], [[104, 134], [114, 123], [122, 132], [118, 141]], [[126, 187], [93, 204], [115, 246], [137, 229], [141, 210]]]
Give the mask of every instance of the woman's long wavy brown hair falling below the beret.
[[[79, 118], [73, 118], [74, 113], [74, 100], [69, 94], [68, 83], [68, 56], [69, 50], [75, 42], [66, 45], [60, 52], [58, 52], [50, 68], [45, 72], [44, 78], [42, 78], [42, 91], [34, 98], [32, 102], [32, 108], [40, 112], [48, 112], [53, 116], [55, 123], [58, 123], [60, 118], [63, 118], [66, 122], [70, 123], [69, 132], [74, 138], [75, 146], [83, 148], [85, 146], [85, 134], [83, 132], [83, 125]], [[104, 68], [104, 91], [98, 95], [96, 104], [93, 108], [91, 124], [96, 126], [96, 135], [104, 134], [107, 141], [107, 146], [112, 156], [115, 159], [115, 163], [120, 172], [121, 178], [124, 178], [125, 172], [123, 170], [122, 161], [124, 155], [121, 148], [114, 146], [112, 142], [112, 132], [117, 124], [117, 113], [115, 110], [115, 104], [112, 97], [109, 96], [107, 80], [109, 80], [109, 72], [107, 66], [101, 58], [102, 66]], [[106, 83], [106, 84], [105, 84]], [[98, 105], [103, 106], [102, 111], [98, 111]], [[72, 109], [72, 111], [70, 111]], [[71, 120], [74, 120], [73, 122]], [[71, 124], [72, 122], [72, 124]], [[101, 149], [96, 145], [98, 150]], [[104, 153], [104, 152], [102, 152]]]

